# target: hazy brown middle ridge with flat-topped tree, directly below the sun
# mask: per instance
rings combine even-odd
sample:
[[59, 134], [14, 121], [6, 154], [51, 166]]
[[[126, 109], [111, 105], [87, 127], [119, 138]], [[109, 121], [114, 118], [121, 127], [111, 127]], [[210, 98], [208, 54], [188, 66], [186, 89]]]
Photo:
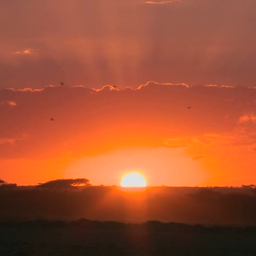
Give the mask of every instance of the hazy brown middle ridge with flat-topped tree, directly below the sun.
[[[84, 187], [80, 187], [85, 183]], [[95, 219], [256, 226], [256, 187], [134, 188], [87, 185], [63, 179], [38, 186], [0, 185], [0, 222]]]

